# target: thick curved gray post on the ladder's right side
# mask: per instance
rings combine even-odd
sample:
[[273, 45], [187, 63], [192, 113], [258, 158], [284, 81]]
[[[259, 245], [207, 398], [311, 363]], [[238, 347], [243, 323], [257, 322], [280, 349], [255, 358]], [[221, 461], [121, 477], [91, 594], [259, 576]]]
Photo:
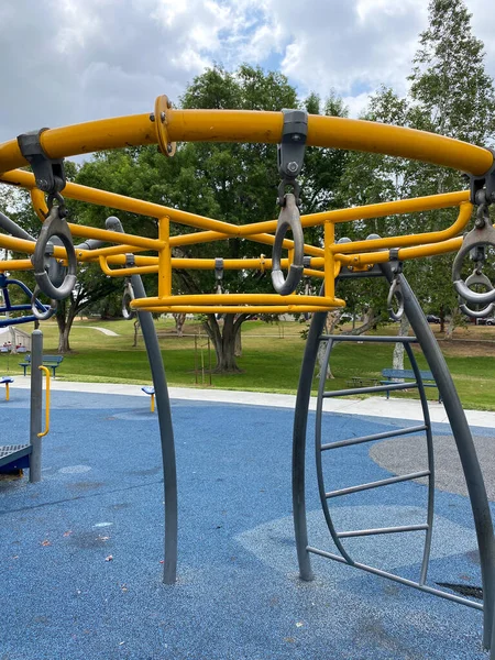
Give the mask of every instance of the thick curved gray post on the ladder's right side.
[[[388, 264], [382, 270], [392, 282], [393, 273]], [[450, 375], [449, 367], [440, 351], [437, 340], [422, 314], [416, 296], [407, 279], [399, 275], [399, 283], [404, 299], [404, 309], [410, 321], [413, 330], [419, 341], [431, 373], [437, 382], [438, 391], [443, 400], [446, 413], [449, 417], [452, 433], [461, 459], [468, 492], [473, 510], [474, 526], [480, 550], [480, 564], [483, 584], [483, 645], [490, 648], [492, 644], [492, 627], [494, 618], [495, 595], [495, 542], [493, 536], [492, 514], [486, 496], [485, 484], [480, 469], [476, 451], [474, 449], [471, 429], [459, 399], [458, 392]], [[493, 649], [494, 650], [494, 649]]]

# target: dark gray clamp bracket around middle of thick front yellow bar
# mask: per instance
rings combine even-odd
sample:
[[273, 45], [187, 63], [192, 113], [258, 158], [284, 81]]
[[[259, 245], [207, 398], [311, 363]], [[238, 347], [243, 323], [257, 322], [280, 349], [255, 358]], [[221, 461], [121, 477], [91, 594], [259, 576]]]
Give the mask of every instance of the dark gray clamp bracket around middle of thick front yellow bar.
[[280, 143], [277, 145], [278, 173], [282, 176], [278, 186], [278, 204], [284, 206], [285, 187], [294, 187], [296, 202], [299, 204], [299, 185], [296, 177], [302, 169], [305, 160], [306, 138], [308, 135], [308, 113], [306, 110], [282, 110], [284, 127]]

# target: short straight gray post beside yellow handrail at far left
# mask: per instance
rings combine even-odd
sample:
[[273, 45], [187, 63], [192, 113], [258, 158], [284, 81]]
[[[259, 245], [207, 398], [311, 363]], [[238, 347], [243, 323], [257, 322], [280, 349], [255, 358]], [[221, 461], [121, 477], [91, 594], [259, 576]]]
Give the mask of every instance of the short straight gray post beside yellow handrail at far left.
[[31, 419], [30, 419], [30, 482], [41, 481], [42, 439], [37, 433], [42, 431], [43, 405], [43, 373], [38, 369], [43, 364], [43, 332], [33, 330], [31, 334]]

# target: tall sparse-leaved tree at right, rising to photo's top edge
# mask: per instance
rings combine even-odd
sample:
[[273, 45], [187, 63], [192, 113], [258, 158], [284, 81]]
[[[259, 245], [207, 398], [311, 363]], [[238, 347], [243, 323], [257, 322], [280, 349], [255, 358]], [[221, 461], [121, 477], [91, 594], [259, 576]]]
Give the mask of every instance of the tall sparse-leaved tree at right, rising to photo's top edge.
[[[495, 91], [484, 66], [484, 46], [472, 33], [471, 14], [463, 0], [431, 0], [429, 26], [420, 34], [420, 47], [414, 58], [410, 97], [418, 110], [420, 125], [430, 131], [490, 146], [495, 132]], [[462, 188], [458, 172], [422, 165], [419, 168], [418, 195], [431, 195]], [[431, 229], [443, 229], [453, 220], [452, 210], [429, 215]], [[450, 332], [458, 318], [458, 299], [450, 277], [452, 255], [427, 260], [418, 273], [428, 304], [442, 320], [450, 312]], [[431, 287], [431, 282], [436, 283]], [[429, 284], [427, 284], [429, 283]]]

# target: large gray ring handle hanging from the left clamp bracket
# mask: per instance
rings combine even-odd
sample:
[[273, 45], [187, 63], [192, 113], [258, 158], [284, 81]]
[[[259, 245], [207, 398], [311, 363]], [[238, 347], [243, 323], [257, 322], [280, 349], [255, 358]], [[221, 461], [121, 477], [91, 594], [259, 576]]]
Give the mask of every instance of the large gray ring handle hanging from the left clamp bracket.
[[[45, 270], [46, 246], [52, 237], [58, 237], [67, 252], [68, 270], [59, 287], [54, 286]], [[67, 222], [59, 216], [59, 207], [54, 206], [43, 223], [32, 256], [34, 277], [40, 290], [53, 300], [63, 300], [70, 295], [76, 286], [77, 257], [74, 250], [73, 237]]]

